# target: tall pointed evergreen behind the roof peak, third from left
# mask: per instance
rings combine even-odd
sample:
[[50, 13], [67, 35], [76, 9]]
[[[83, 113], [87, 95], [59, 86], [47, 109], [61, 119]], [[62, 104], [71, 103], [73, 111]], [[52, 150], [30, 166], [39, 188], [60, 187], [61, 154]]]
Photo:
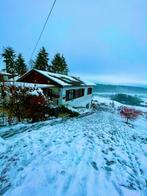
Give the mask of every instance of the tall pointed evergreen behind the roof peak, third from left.
[[36, 57], [36, 61], [34, 62], [34, 68], [47, 71], [48, 69], [48, 53], [45, 48], [42, 47]]

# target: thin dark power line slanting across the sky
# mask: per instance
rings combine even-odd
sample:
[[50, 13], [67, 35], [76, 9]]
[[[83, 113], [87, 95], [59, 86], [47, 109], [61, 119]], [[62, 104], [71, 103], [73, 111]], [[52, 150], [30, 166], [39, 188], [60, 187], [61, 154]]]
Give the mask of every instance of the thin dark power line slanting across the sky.
[[50, 9], [50, 11], [49, 11], [49, 13], [48, 13], [48, 16], [47, 16], [47, 18], [46, 18], [46, 20], [45, 20], [45, 23], [44, 23], [44, 25], [43, 25], [42, 31], [41, 31], [41, 33], [40, 33], [40, 35], [39, 35], [39, 37], [38, 37], [38, 40], [37, 40], [37, 42], [36, 42], [36, 44], [35, 44], [35, 47], [34, 47], [34, 49], [33, 49], [33, 52], [32, 52], [32, 54], [31, 54], [31, 58], [30, 58], [30, 59], [32, 59], [32, 57], [33, 57], [33, 55], [34, 55], [34, 52], [36, 51], [36, 48], [37, 48], [37, 46], [38, 46], [38, 43], [39, 43], [39, 41], [40, 41], [40, 39], [41, 39], [41, 37], [42, 37], [42, 34], [43, 34], [44, 30], [45, 30], [46, 25], [47, 25], [47, 22], [48, 22], [48, 20], [49, 20], [51, 14], [52, 14], [52, 11], [53, 11], [53, 9], [54, 9], [54, 7], [55, 7], [56, 1], [57, 1], [57, 0], [54, 0], [53, 5], [52, 5], [52, 7], [51, 7], [51, 9]]

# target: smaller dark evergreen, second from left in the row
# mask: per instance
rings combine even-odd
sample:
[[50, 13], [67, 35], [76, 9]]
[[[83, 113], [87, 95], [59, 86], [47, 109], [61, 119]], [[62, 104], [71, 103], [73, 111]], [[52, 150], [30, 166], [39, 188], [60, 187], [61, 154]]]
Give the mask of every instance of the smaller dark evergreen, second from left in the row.
[[27, 66], [25, 64], [25, 60], [24, 60], [22, 54], [19, 54], [16, 59], [16, 71], [19, 76], [21, 76], [27, 72]]

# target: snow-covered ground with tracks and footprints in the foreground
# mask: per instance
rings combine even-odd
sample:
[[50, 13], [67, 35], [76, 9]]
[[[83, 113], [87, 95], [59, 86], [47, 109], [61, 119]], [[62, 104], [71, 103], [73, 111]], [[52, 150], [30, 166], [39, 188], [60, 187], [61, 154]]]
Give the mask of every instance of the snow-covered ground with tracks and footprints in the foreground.
[[132, 124], [96, 110], [1, 130], [0, 195], [147, 195], [147, 119]]

